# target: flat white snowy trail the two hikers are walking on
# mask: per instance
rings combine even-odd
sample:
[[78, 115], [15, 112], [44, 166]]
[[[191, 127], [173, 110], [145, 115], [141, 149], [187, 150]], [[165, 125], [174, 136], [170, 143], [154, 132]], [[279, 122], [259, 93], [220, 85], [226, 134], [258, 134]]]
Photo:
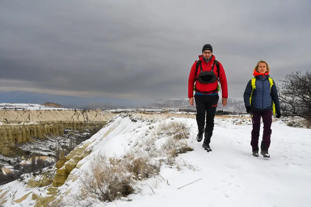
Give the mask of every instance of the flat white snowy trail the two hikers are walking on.
[[[147, 182], [155, 194], [147, 187], [142, 192], [143, 196], [129, 196], [133, 199], [131, 202], [116, 202], [119, 207], [311, 205], [309, 129], [289, 128], [274, 122], [269, 150], [271, 158], [263, 158], [262, 155], [251, 155], [251, 125], [215, 126], [211, 139], [213, 151], [206, 152], [202, 142], [195, 139], [195, 120], [188, 119], [187, 122], [193, 124], [194, 151], [179, 157], [200, 168], [199, 171], [184, 168], [176, 173], [176, 169], [163, 167], [161, 175], [169, 185], [166, 181], [159, 181], [158, 187], [155, 187], [155, 179], [149, 179]], [[177, 189], [190, 182], [194, 183]]]

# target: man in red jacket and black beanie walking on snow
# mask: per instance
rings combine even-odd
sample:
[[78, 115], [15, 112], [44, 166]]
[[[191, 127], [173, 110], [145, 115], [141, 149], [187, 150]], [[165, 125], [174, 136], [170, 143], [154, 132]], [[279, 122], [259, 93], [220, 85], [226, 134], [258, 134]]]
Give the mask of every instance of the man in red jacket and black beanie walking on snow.
[[[202, 141], [204, 133], [204, 141], [202, 146], [207, 151], [211, 151], [210, 142], [214, 129], [214, 117], [219, 100], [217, 79], [219, 79], [222, 89], [222, 106], [227, 105], [228, 98], [225, 70], [219, 61], [215, 61], [216, 57], [212, 53], [213, 48], [210, 44], [203, 46], [202, 55], [199, 55], [200, 65], [198, 66], [197, 74], [196, 61], [191, 67], [188, 79], [188, 98], [191, 106], [193, 106], [194, 103], [193, 86], [195, 83], [194, 99], [197, 108], [196, 119], [199, 131], [197, 134], [197, 141]], [[218, 62], [219, 64], [219, 74], [215, 62]], [[205, 114], [206, 127], [204, 128]]]

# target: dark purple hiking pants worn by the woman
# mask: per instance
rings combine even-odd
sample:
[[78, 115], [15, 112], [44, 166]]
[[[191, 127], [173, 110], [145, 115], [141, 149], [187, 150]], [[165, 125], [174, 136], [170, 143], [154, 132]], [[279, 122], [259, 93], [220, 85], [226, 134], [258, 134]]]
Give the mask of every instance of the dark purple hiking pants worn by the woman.
[[253, 130], [252, 130], [252, 140], [251, 146], [253, 151], [259, 150], [258, 148], [258, 141], [259, 141], [259, 132], [260, 132], [260, 119], [262, 117], [263, 122], [263, 134], [262, 134], [262, 142], [261, 142], [261, 150], [268, 150], [271, 140], [271, 124], [272, 124], [272, 111], [252, 111], [252, 123], [253, 123]]

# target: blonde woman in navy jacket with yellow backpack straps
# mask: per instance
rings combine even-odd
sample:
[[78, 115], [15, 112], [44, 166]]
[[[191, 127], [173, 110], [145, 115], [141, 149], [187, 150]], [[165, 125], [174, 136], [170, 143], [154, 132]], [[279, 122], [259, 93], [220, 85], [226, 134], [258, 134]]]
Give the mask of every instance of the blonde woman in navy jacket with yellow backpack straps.
[[[260, 132], [260, 119], [262, 117], [263, 122], [263, 134], [261, 142], [261, 152], [263, 157], [270, 157], [268, 149], [270, 147], [271, 137], [271, 124], [273, 115], [273, 103], [275, 104], [276, 118], [281, 117], [281, 108], [279, 103], [278, 92], [274, 80], [273, 85], [270, 88], [269, 81], [270, 68], [267, 62], [259, 61], [253, 70], [255, 77], [255, 87], [253, 89], [252, 79], [248, 81], [244, 91], [244, 104], [247, 113], [251, 114], [252, 117], [252, 139], [251, 146], [253, 150], [253, 156], [258, 157], [258, 141]], [[253, 90], [253, 92], [252, 92]], [[251, 99], [250, 99], [251, 97]]]

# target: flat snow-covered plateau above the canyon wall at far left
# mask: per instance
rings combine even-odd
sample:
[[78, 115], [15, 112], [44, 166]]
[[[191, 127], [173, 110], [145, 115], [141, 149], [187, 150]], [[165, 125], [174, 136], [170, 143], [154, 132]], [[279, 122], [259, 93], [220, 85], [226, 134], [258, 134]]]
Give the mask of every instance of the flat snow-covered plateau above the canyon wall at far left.
[[0, 110], [74, 110], [69, 108], [49, 107], [41, 104], [0, 103]]

